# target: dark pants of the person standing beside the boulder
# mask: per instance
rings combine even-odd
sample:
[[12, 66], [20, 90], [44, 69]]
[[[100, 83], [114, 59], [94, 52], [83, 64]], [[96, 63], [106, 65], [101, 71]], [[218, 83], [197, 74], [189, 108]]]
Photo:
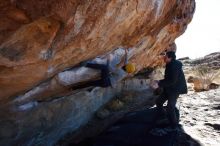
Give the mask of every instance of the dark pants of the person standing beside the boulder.
[[175, 128], [178, 125], [177, 113], [175, 110], [178, 97], [179, 94], [167, 94], [166, 91], [163, 91], [162, 95], [156, 100], [159, 114], [164, 112], [163, 104], [168, 100], [167, 116], [172, 128]]

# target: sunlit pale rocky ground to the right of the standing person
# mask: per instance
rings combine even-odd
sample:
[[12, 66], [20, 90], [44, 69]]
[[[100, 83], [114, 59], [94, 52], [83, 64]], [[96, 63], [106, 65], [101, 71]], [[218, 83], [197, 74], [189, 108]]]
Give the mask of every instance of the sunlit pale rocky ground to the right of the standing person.
[[220, 145], [220, 89], [183, 95], [178, 105], [186, 133], [205, 146]]

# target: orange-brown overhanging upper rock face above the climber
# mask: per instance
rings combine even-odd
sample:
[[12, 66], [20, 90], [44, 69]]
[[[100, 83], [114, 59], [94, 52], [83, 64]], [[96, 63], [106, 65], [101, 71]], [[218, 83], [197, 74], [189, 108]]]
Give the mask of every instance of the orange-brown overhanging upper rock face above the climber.
[[134, 49], [138, 69], [157, 65], [194, 9], [194, 0], [0, 0], [0, 103], [118, 47]]

